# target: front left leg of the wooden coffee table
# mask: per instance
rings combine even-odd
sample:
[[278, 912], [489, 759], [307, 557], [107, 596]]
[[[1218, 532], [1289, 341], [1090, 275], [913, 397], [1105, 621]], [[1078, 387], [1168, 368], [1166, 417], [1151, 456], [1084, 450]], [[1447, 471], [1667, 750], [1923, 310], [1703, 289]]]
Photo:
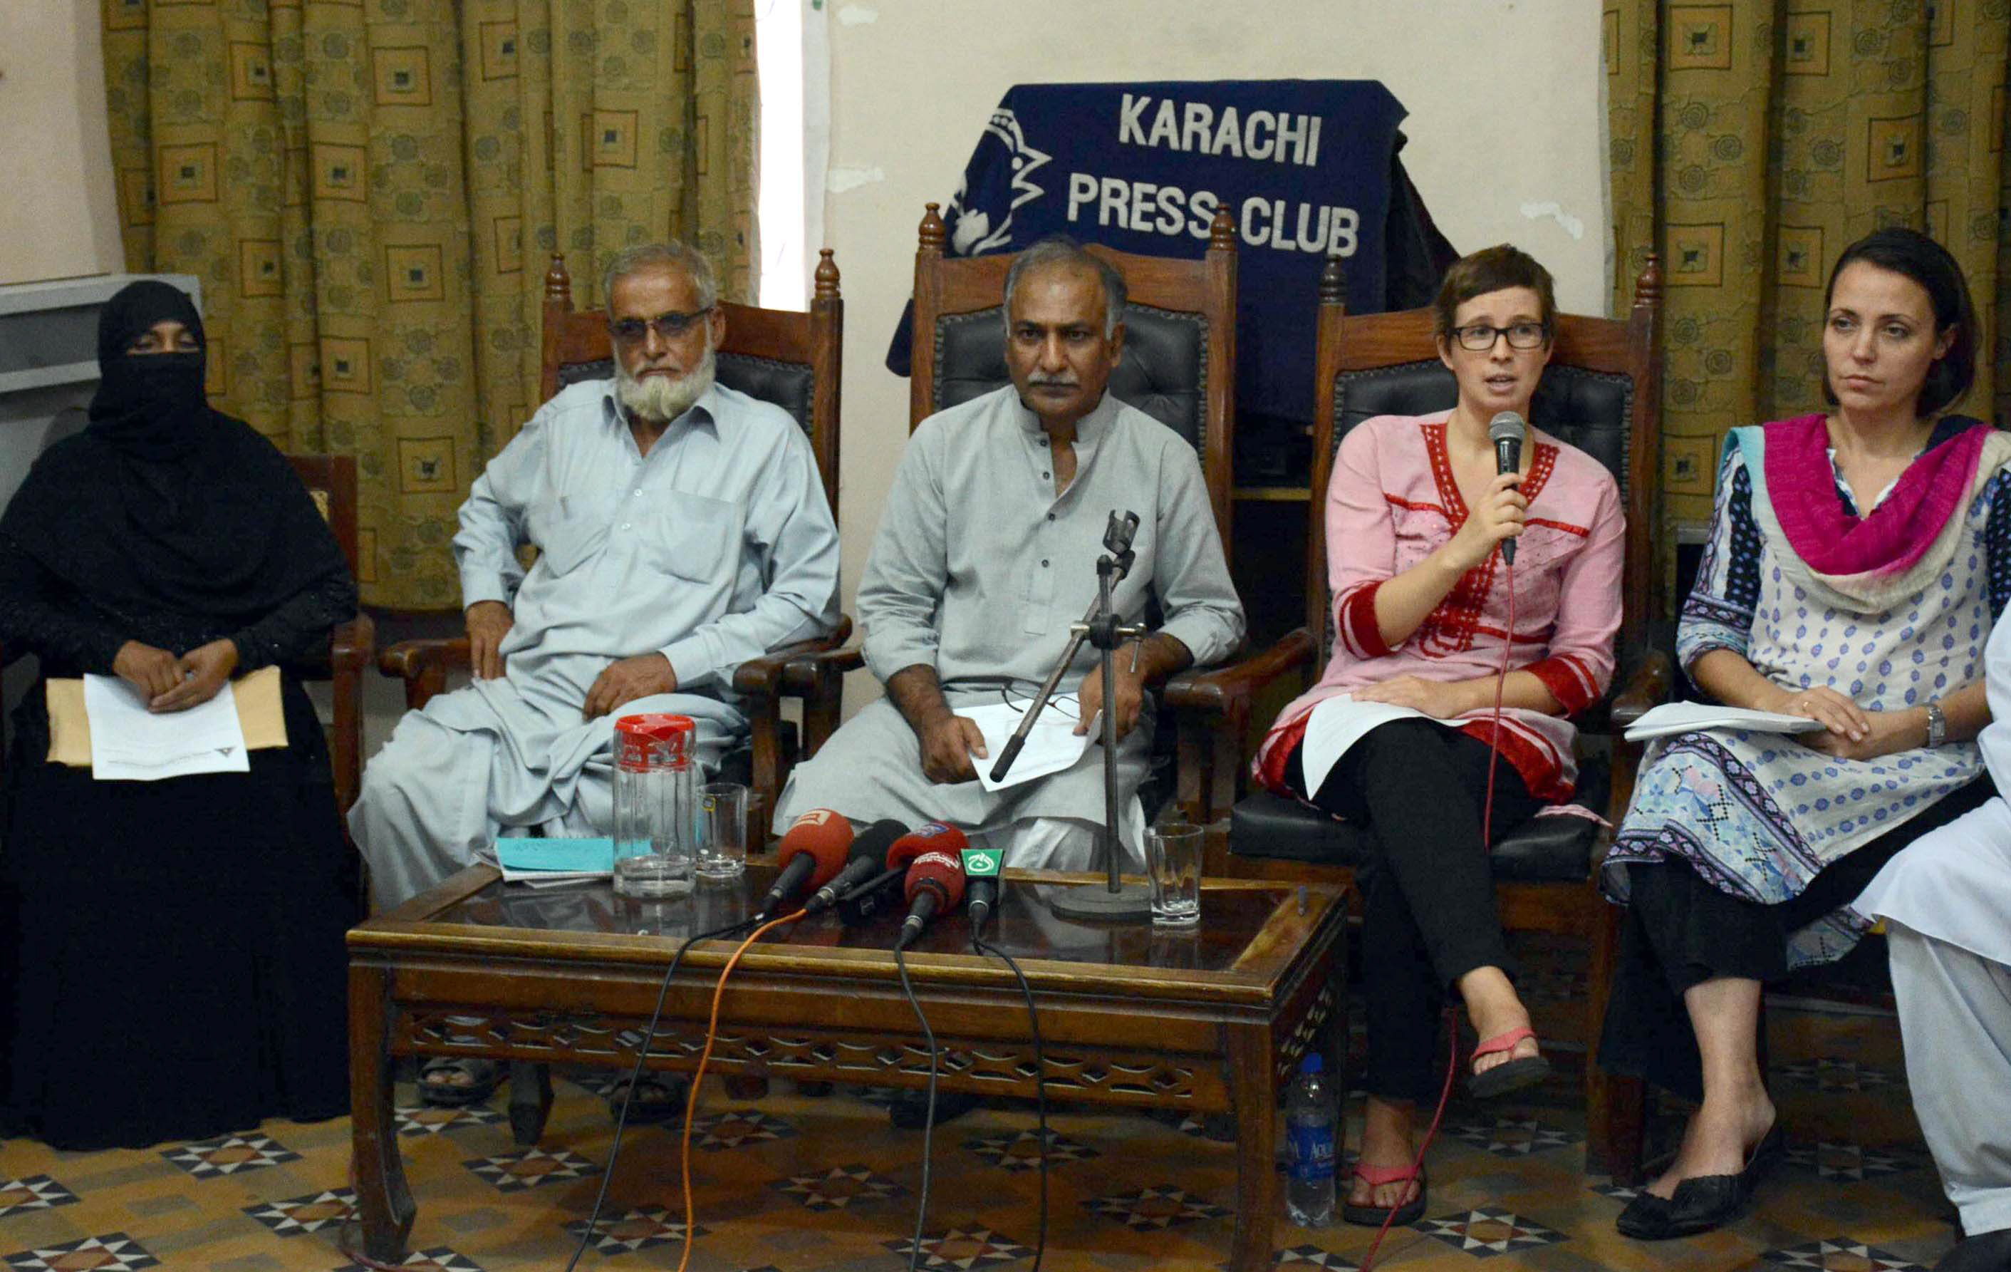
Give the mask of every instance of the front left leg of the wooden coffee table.
[[350, 1169], [364, 1254], [396, 1264], [418, 1208], [404, 1185], [390, 1077], [390, 972], [350, 966]]

